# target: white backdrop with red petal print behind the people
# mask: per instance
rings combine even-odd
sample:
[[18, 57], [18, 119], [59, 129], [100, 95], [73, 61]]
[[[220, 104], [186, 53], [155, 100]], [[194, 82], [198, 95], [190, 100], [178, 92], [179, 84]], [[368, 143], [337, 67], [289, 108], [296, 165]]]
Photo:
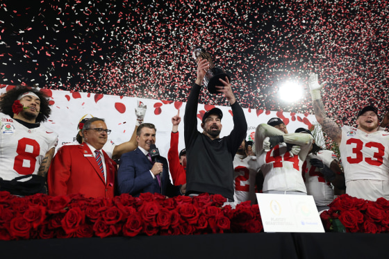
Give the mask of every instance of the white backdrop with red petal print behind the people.
[[[8, 86], [9, 87], [9, 86]], [[7, 85], [0, 85], [0, 94], [6, 92]], [[134, 97], [117, 97], [106, 94], [91, 94], [83, 92], [67, 92], [59, 90], [42, 90], [49, 95], [51, 103], [51, 117], [44, 124], [58, 133], [58, 147], [67, 142], [76, 142], [78, 122], [83, 117], [101, 117], [106, 120], [109, 129], [112, 130], [108, 139], [120, 144], [130, 139], [135, 127], [135, 108], [138, 101], [147, 105], [144, 122], [156, 125], [156, 146], [160, 154], [167, 157], [169, 150], [170, 133], [172, 132], [172, 117], [180, 110], [181, 124], [179, 125], [179, 150], [185, 147], [183, 140], [183, 115], [185, 104], [181, 102], [158, 101], [154, 99], [139, 99]], [[189, 92], [189, 91], [188, 91]], [[188, 93], [189, 94], [189, 93]], [[202, 118], [205, 110], [214, 106], [199, 104], [198, 117]], [[223, 111], [221, 137], [229, 135], [233, 128], [231, 108], [216, 106]], [[267, 110], [243, 109], [247, 119], [247, 140], [254, 139], [256, 126], [266, 123], [271, 117], [281, 117], [289, 133], [296, 128], [308, 128], [316, 122], [314, 115], [295, 114], [293, 112], [276, 112]], [[201, 119], [197, 119], [197, 127], [201, 129]]]

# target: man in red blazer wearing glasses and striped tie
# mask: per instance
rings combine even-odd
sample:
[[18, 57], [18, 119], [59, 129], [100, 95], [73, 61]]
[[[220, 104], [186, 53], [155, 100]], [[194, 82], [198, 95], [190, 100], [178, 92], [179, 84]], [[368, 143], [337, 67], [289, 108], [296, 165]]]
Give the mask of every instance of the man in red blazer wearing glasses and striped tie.
[[50, 195], [114, 196], [117, 165], [102, 150], [109, 133], [104, 119], [94, 117], [83, 126], [82, 144], [58, 150], [47, 177]]

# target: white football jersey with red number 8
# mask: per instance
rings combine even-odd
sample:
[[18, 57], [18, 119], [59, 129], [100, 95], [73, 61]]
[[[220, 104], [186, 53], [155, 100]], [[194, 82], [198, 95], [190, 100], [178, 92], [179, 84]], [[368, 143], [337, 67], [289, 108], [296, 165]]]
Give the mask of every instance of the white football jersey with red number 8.
[[42, 124], [30, 129], [2, 112], [0, 130], [0, 177], [7, 181], [38, 174], [47, 151], [58, 142], [58, 134]]

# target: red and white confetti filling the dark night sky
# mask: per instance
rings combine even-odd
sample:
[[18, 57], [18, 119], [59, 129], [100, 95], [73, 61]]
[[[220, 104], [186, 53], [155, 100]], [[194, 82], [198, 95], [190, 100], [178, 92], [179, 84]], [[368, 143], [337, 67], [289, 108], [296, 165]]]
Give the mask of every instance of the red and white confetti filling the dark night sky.
[[[329, 117], [353, 124], [365, 105], [388, 109], [388, 17], [387, 0], [2, 1], [0, 79], [92, 92], [96, 101], [113, 94], [184, 102], [196, 76], [191, 51], [202, 46], [257, 115], [312, 114], [307, 81], [315, 72], [328, 82]], [[287, 81], [304, 85], [300, 101], [279, 100]], [[207, 90], [200, 102], [227, 104]]]

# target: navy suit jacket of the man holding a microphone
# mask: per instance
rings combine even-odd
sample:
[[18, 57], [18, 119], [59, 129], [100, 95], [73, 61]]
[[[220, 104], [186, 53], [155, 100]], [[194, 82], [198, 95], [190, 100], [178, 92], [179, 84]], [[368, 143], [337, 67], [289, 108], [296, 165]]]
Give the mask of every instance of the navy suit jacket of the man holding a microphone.
[[142, 192], [160, 193], [167, 197], [174, 197], [180, 193], [180, 186], [172, 185], [169, 176], [169, 167], [166, 158], [158, 157], [158, 162], [163, 163], [161, 174], [161, 187], [158, 179], [151, 176], [150, 169], [153, 164], [147, 156], [139, 149], [124, 153], [120, 159], [119, 170], [117, 171], [117, 183], [119, 192], [131, 194], [138, 197]]

